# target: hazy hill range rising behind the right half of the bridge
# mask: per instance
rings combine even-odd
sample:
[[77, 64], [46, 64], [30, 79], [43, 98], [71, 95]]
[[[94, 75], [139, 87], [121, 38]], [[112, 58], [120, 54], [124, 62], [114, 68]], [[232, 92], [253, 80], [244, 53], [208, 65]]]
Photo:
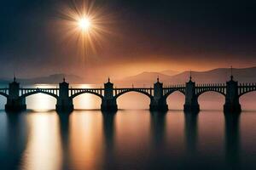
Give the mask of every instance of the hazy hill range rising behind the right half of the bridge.
[[[119, 83], [134, 83], [137, 85], [152, 85], [156, 77], [166, 84], [185, 83], [189, 81], [190, 71], [183, 71], [174, 76], [168, 76], [158, 72], [143, 72], [133, 77], [126, 77]], [[230, 68], [218, 68], [211, 71], [192, 71], [192, 79], [197, 83], [224, 83], [230, 80]], [[256, 67], [233, 69], [234, 79], [239, 82], [256, 82]]]

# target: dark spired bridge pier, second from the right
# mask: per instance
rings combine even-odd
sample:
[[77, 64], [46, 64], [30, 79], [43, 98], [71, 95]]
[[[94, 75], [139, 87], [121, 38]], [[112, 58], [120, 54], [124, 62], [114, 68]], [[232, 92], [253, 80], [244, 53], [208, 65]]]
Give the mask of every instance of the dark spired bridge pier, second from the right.
[[192, 82], [191, 77], [189, 82], [186, 82], [185, 104], [183, 105], [183, 111], [191, 113], [198, 113], [200, 111], [198, 97], [195, 94], [195, 82]]

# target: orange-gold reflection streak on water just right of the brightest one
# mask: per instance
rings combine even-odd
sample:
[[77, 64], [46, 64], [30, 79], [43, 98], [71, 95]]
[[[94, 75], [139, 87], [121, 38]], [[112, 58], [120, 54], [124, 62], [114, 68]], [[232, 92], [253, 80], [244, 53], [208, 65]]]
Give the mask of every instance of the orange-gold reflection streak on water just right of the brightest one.
[[70, 117], [70, 149], [73, 169], [97, 169], [102, 164], [102, 114], [79, 111]]

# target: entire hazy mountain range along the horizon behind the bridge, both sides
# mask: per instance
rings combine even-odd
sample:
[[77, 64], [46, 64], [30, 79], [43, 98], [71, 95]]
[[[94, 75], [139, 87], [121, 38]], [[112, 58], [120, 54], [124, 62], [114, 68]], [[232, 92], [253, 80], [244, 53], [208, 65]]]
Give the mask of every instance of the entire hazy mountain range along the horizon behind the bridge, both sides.
[[[230, 68], [218, 68], [210, 71], [160, 71], [160, 72], [142, 72], [135, 76], [125, 77], [123, 79], [113, 79], [112, 81], [118, 85], [152, 85], [156, 82], [156, 78], [160, 78], [160, 82], [165, 84], [180, 84], [189, 81], [191, 73], [192, 80], [197, 83], [224, 83], [230, 80]], [[256, 82], [256, 67], [234, 68], [232, 70], [234, 79], [239, 82]], [[18, 78], [17, 81], [24, 84], [35, 83], [58, 83], [62, 82], [63, 77], [70, 83], [102, 83], [96, 80], [87, 80], [84, 77], [67, 74], [53, 74], [48, 77], [34, 78]], [[11, 82], [11, 78], [0, 78], [1, 83]]]

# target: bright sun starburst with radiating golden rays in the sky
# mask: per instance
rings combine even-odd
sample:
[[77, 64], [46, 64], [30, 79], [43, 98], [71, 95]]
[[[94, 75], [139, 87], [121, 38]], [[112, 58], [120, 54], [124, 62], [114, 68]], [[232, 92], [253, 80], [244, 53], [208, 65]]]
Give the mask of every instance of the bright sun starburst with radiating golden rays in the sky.
[[75, 44], [84, 59], [102, 48], [112, 33], [108, 31], [111, 14], [106, 12], [106, 8], [96, 6], [94, 1], [64, 5], [60, 13], [61, 37], [65, 42]]

